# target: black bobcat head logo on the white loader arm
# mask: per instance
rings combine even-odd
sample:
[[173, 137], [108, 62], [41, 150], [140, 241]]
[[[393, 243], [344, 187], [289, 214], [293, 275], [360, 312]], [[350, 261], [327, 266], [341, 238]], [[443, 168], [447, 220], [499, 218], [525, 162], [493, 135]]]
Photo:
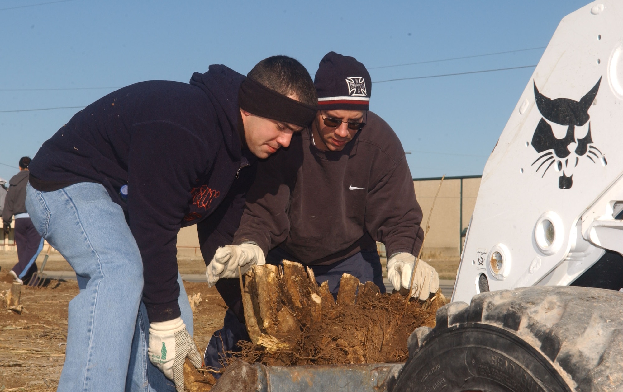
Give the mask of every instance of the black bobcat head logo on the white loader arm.
[[[569, 98], [552, 100], [541, 94], [536, 88], [536, 83], [533, 83], [535, 85], [536, 107], [543, 117], [537, 124], [532, 136], [532, 147], [536, 152], [543, 152], [543, 154], [532, 162], [532, 166], [538, 164], [536, 172], [543, 168], [541, 178], [553, 166], [554, 170], [560, 173], [558, 187], [569, 189], [573, 186], [573, 170], [578, 166], [581, 158], [586, 157], [592, 163], [601, 161], [603, 166], [607, 165], [606, 157], [593, 144], [591, 121], [589, 121], [591, 116], [588, 114], [599, 90], [601, 78], [579, 101]], [[558, 139], [554, 136], [554, 128], [561, 126], [567, 127], [566, 134], [562, 139]], [[562, 132], [558, 134], [562, 134]], [[578, 138], [578, 136], [583, 137]]]

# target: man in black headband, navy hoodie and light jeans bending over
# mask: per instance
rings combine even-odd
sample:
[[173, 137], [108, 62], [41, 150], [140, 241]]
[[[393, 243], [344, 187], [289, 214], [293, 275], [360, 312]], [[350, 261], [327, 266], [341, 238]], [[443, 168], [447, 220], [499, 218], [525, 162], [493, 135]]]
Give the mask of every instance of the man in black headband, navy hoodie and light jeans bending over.
[[201, 355], [177, 233], [197, 223], [206, 260], [231, 243], [257, 157], [287, 147], [316, 104], [293, 58], [269, 57], [247, 77], [211, 65], [189, 84], [114, 91], [43, 144], [27, 211], [80, 286], [59, 391], [184, 390], [184, 359], [200, 366]]

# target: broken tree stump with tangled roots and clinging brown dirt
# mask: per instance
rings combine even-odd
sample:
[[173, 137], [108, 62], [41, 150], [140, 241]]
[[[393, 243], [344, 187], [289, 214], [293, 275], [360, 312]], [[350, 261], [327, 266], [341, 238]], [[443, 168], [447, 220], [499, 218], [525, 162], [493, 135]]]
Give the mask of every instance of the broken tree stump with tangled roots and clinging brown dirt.
[[239, 342], [234, 357], [281, 366], [404, 362], [409, 335], [434, 327], [446, 300], [441, 291], [427, 301], [381, 294], [372, 282], [344, 274], [334, 301], [311, 269], [284, 261], [283, 267], [254, 266], [245, 276], [243, 302], [252, 342]]

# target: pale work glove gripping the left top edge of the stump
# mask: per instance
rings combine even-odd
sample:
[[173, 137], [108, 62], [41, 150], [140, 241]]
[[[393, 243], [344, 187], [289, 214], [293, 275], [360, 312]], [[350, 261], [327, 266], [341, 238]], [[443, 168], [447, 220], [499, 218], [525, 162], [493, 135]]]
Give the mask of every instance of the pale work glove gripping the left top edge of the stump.
[[221, 278], [237, 278], [238, 267], [244, 274], [255, 264], [262, 266], [266, 259], [262, 248], [254, 243], [221, 246], [207, 265], [207, 284], [212, 287]]

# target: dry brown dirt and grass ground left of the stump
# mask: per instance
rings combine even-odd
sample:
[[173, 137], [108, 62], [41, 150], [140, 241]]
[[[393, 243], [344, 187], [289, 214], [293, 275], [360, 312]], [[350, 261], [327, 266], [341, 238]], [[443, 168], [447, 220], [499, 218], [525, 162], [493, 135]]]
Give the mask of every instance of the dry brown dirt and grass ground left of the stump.
[[[40, 267], [43, 255], [37, 259]], [[14, 252], [0, 252], [0, 292], [11, 287], [9, 269], [17, 262]], [[69, 264], [52, 253], [45, 269], [70, 270]], [[202, 259], [182, 259], [182, 273], [205, 273]], [[202, 271], [201, 271], [202, 269]], [[212, 333], [223, 324], [226, 306], [207, 283], [184, 282], [189, 296], [201, 294], [194, 313], [194, 337], [202, 352]], [[45, 287], [22, 286], [22, 314], [0, 309], [0, 391], [56, 390], [65, 360], [67, 306], [78, 294], [76, 281], [47, 281]]]

